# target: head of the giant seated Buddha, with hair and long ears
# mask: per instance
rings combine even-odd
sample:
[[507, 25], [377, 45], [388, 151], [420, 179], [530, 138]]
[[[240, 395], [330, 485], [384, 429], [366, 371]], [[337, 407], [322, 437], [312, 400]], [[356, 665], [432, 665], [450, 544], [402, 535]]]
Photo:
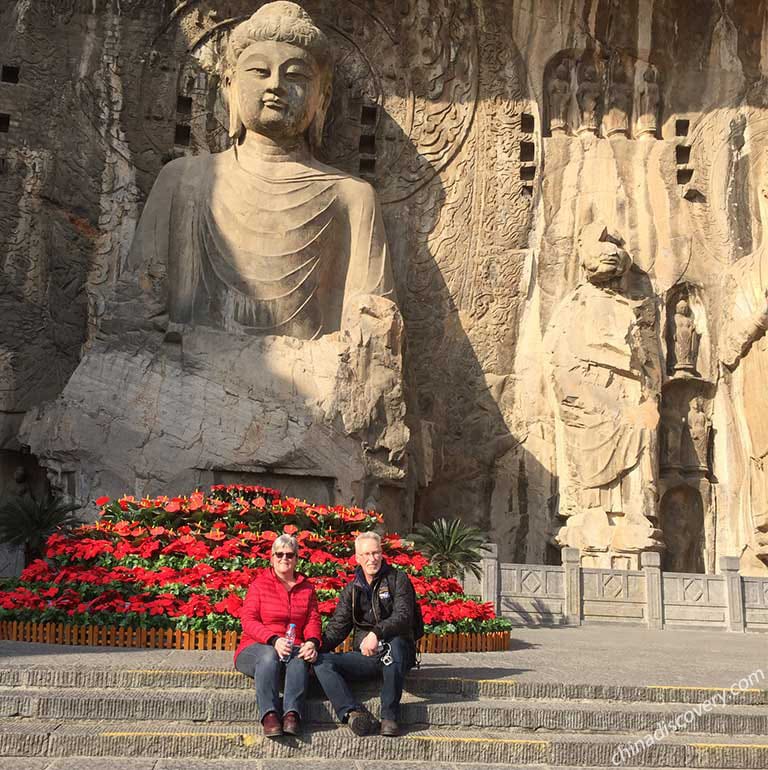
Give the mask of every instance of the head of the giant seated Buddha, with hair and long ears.
[[232, 32], [226, 68], [230, 137], [303, 136], [319, 147], [333, 66], [328, 39], [303, 8], [286, 0], [259, 8]]

